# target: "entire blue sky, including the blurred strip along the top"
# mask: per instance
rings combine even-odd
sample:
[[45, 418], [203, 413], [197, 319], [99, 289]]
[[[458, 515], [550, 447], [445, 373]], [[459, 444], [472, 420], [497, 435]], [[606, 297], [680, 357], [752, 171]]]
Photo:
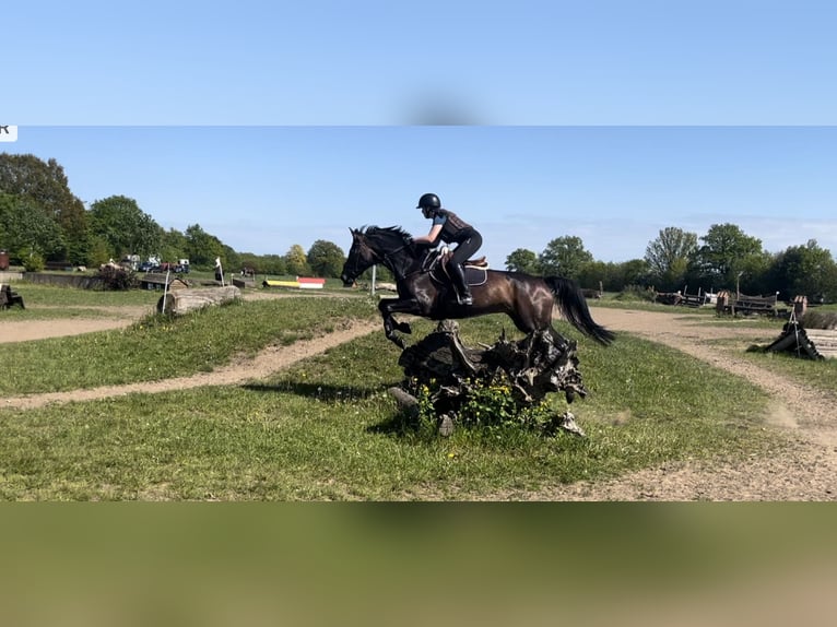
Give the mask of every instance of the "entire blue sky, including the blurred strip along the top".
[[14, 3], [0, 151], [259, 255], [426, 233], [427, 191], [495, 268], [566, 235], [626, 261], [722, 223], [837, 253], [835, 19], [805, 0]]

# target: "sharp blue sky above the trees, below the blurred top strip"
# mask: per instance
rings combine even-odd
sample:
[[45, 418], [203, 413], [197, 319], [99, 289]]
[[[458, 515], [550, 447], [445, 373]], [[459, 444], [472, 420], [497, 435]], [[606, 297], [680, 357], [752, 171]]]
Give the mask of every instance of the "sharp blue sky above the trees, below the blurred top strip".
[[667, 226], [727, 222], [770, 251], [837, 251], [837, 127], [22, 127], [7, 146], [56, 158], [87, 203], [128, 196], [260, 255], [347, 250], [364, 224], [423, 234], [425, 191], [495, 267], [564, 235], [625, 261]]

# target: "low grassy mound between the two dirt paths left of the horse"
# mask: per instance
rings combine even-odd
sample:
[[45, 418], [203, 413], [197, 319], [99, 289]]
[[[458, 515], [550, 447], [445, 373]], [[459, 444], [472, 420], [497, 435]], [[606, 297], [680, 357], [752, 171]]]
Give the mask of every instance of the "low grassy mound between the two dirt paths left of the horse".
[[328, 333], [374, 318], [359, 298], [236, 301], [180, 318], [150, 315], [127, 329], [3, 346], [0, 393], [23, 394], [151, 381], [209, 371], [264, 346]]

